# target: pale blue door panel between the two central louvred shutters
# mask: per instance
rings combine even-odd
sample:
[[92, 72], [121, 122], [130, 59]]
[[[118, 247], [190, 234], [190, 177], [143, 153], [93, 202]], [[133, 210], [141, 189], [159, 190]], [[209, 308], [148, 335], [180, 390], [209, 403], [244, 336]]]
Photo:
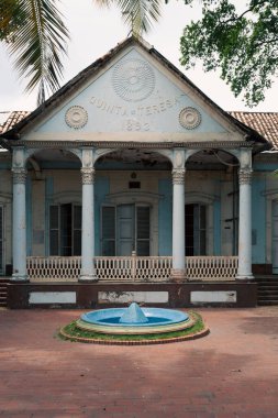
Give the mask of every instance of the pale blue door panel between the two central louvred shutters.
[[118, 226], [118, 254], [131, 255], [135, 250], [135, 207], [134, 205], [120, 205], [116, 210]]

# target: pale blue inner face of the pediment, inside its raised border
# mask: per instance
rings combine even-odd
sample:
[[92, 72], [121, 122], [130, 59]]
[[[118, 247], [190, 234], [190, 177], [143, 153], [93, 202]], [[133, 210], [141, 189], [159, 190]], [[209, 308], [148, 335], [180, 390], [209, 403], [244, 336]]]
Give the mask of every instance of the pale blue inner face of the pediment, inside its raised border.
[[132, 48], [37, 131], [226, 132], [186, 90]]

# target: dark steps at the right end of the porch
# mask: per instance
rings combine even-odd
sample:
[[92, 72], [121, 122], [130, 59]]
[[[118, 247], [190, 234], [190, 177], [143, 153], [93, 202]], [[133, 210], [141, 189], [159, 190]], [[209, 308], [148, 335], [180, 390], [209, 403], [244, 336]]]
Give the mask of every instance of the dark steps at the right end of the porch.
[[257, 278], [258, 306], [278, 305], [278, 276]]

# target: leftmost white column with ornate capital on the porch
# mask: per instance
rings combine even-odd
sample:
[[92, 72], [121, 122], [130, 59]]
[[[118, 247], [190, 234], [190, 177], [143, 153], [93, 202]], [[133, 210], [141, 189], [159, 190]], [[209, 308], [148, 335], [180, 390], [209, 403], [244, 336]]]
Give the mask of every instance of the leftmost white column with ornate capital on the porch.
[[26, 202], [25, 168], [12, 168], [13, 173], [13, 213], [12, 213], [12, 252], [14, 282], [29, 282], [26, 273]]

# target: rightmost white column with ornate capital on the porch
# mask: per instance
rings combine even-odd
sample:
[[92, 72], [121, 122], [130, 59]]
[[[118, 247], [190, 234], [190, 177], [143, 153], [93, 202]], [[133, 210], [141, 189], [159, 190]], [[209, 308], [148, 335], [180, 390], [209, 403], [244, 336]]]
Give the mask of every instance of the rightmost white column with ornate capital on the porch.
[[240, 221], [238, 221], [238, 271], [237, 279], [254, 278], [252, 274], [252, 169], [238, 170]]

